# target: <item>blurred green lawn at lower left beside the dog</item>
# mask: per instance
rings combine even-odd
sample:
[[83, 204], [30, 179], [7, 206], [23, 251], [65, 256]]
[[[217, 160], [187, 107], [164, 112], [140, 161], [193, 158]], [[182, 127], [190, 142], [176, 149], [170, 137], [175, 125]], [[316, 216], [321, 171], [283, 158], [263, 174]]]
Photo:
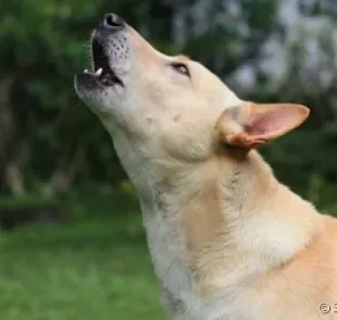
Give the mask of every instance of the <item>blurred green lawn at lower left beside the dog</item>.
[[163, 319], [140, 214], [0, 233], [0, 319]]

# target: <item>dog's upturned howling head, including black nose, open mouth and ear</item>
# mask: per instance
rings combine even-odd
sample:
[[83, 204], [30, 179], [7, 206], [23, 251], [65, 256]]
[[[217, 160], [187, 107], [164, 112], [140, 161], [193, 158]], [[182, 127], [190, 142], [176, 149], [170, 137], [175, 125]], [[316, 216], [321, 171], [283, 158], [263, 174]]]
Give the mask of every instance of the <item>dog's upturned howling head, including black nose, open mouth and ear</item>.
[[200, 63], [157, 51], [115, 14], [102, 19], [91, 41], [92, 70], [76, 75], [78, 96], [112, 135], [123, 132], [154, 157], [199, 161], [216, 144], [249, 149], [309, 114], [298, 104], [240, 100]]

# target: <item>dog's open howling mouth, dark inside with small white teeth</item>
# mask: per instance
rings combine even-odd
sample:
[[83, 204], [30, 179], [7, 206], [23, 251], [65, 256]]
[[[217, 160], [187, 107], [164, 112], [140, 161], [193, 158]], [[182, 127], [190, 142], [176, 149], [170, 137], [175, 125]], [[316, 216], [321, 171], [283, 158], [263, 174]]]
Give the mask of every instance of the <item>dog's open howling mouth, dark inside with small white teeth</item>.
[[104, 48], [93, 38], [92, 45], [92, 60], [93, 71], [84, 71], [85, 74], [95, 76], [100, 83], [105, 86], [124, 86], [123, 82], [116, 76], [114, 71], [110, 67], [108, 56], [105, 54]]

